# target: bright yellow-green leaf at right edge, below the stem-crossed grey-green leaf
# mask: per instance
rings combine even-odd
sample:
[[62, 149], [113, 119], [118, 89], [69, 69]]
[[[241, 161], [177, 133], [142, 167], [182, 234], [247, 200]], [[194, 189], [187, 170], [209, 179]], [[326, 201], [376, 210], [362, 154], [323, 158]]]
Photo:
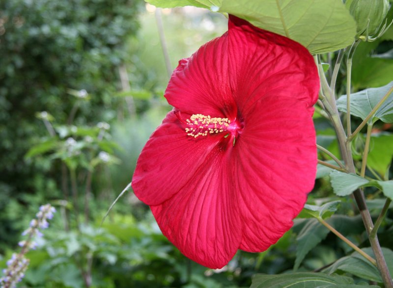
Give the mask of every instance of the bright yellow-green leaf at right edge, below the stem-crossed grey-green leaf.
[[371, 134], [370, 151], [367, 157], [367, 166], [384, 176], [392, 163], [393, 134]]

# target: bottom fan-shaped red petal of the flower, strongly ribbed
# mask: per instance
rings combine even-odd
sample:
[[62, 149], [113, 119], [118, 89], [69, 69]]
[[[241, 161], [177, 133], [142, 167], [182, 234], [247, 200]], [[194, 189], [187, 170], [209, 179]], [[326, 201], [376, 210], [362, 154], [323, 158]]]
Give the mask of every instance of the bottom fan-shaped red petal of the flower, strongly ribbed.
[[178, 193], [150, 207], [163, 234], [185, 256], [209, 268], [227, 264], [241, 241], [226, 157], [227, 152], [217, 146], [207, 157], [208, 163]]

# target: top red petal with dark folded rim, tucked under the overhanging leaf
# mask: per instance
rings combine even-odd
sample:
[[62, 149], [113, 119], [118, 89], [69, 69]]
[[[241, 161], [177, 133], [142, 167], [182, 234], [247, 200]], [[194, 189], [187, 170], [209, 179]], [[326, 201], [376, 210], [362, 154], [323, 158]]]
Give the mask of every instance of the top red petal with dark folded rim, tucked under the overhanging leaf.
[[319, 78], [308, 50], [281, 35], [259, 29], [234, 16], [228, 23], [229, 78], [241, 114], [272, 90], [279, 96], [318, 99]]

